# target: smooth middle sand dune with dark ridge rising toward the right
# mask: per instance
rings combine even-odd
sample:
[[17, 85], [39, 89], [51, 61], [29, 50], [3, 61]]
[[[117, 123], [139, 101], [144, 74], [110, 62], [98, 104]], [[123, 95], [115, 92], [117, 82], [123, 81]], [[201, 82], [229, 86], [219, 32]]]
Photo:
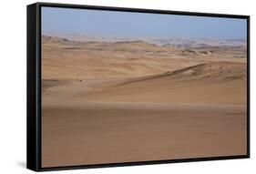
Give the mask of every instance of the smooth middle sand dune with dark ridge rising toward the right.
[[[73, 101], [241, 105], [246, 104], [246, 76], [246, 64], [214, 62], [148, 77], [83, 79], [66, 85], [59, 81], [57, 87], [52, 81], [46, 96], [63, 93]], [[48, 83], [43, 81], [43, 87]]]

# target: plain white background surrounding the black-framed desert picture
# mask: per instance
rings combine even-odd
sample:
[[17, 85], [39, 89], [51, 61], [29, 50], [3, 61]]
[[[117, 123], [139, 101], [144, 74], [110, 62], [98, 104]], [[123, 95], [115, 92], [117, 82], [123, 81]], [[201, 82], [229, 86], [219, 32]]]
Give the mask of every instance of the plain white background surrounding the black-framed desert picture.
[[[0, 173], [33, 173], [26, 169], [26, 5], [33, 0], [2, 0], [0, 4]], [[51, 2], [251, 15], [251, 159], [190, 162], [47, 173], [255, 173], [256, 57], [253, 0], [51, 0]], [[254, 170], [254, 172], [253, 172]]]

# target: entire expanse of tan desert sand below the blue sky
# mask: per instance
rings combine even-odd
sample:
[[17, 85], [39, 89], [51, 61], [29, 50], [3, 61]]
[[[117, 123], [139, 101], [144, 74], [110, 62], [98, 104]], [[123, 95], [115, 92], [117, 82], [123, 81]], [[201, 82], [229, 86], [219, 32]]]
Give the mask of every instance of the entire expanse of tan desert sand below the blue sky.
[[42, 38], [42, 166], [247, 153], [246, 46]]

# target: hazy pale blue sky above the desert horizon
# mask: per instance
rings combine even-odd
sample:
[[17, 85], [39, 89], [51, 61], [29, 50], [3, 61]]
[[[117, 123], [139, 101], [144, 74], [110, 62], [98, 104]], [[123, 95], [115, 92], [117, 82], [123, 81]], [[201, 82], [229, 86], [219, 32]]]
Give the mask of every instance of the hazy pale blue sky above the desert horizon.
[[246, 32], [246, 19], [42, 7], [43, 35], [244, 39]]

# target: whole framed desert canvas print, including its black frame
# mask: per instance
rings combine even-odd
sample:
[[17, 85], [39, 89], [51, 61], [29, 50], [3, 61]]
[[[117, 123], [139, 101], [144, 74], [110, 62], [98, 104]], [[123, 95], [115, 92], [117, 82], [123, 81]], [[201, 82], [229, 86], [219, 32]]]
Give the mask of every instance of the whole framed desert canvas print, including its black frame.
[[250, 157], [250, 17], [27, 6], [27, 168]]

